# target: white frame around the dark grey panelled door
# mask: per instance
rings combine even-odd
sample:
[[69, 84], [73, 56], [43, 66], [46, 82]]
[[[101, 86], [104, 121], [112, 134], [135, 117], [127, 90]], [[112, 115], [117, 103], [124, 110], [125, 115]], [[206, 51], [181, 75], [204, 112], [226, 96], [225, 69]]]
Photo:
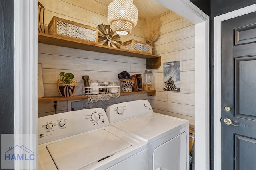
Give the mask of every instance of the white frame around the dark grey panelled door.
[[256, 11], [256, 4], [214, 17], [214, 169], [221, 169], [221, 27], [222, 21]]

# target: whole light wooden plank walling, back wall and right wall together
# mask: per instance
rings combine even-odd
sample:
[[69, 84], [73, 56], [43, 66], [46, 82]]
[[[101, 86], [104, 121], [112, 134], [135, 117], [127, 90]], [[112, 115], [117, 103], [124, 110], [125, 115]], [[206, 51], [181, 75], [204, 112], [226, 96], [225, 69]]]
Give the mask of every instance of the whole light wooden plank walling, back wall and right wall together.
[[[92, 27], [101, 23], [108, 25], [106, 2], [99, 0], [40, 0], [40, 2], [46, 9], [46, 28], [52, 16]], [[190, 127], [194, 128], [194, 25], [174, 12], [167, 12], [159, 19], [161, 35], [156, 41], [156, 52], [162, 56], [162, 66], [152, 70], [155, 76], [156, 96], [149, 98], [146, 94], [121, 96], [117, 98], [118, 100], [110, 99], [108, 104], [111, 100], [114, 103], [146, 98], [150, 100], [155, 112], [188, 119]], [[139, 18], [131, 35], [121, 37], [122, 42], [130, 39], [146, 41], [142, 18]], [[181, 61], [181, 92], [163, 91], [163, 63], [169, 61]], [[42, 64], [45, 96], [58, 96], [56, 80], [61, 71], [74, 73], [75, 79], [78, 80], [76, 90], [78, 95], [82, 94], [82, 75], [89, 75], [90, 79], [118, 81], [117, 74], [123, 70], [130, 74], [143, 73], [146, 70], [145, 59], [46, 44], [38, 44], [38, 63]], [[59, 101], [58, 104], [58, 113], [67, 111], [67, 101]], [[106, 104], [98, 103], [91, 107], [96, 106], [106, 107]], [[38, 113], [42, 116], [54, 113], [52, 103], [39, 102]]]

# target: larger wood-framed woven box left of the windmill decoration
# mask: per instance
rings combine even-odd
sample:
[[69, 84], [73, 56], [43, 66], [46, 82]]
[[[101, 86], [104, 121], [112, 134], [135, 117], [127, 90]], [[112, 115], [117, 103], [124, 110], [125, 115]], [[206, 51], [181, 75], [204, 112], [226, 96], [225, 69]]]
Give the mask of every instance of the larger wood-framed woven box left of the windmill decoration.
[[98, 29], [55, 16], [48, 25], [48, 34], [98, 43]]

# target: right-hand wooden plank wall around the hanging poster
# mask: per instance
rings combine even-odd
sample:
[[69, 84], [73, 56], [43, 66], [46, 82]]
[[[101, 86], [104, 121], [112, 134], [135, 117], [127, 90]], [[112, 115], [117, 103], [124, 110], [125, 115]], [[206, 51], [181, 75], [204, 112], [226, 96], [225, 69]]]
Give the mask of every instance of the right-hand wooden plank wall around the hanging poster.
[[[156, 96], [150, 96], [155, 112], [188, 119], [194, 128], [195, 99], [195, 56], [194, 24], [174, 12], [167, 12], [158, 18], [161, 35], [155, 42], [161, 67], [154, 69]], [[163, 91], [163, 63], [180, 61], [180, 92]]]

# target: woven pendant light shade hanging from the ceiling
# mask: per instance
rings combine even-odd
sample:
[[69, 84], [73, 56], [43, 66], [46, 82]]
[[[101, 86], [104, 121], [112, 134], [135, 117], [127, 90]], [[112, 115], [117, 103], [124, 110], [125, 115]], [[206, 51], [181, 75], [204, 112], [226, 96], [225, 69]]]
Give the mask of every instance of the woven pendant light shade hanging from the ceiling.
[[113, 0], [108, 6], [108, 22], [116, 34], [127, 35], [137, 25], [138, 9], [133, 0]]

